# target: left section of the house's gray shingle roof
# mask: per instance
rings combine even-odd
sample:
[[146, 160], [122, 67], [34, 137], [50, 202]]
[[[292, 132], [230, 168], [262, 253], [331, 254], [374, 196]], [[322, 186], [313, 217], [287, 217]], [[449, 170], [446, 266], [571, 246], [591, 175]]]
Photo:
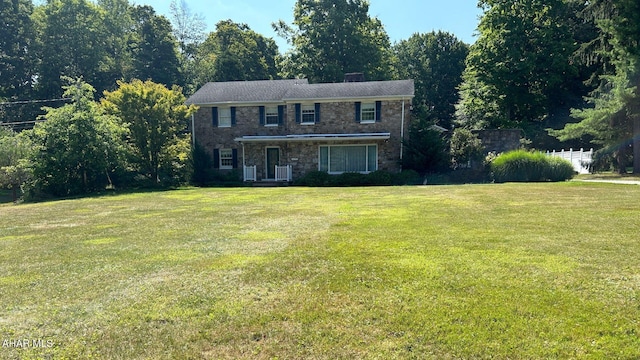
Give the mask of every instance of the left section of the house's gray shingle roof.
[[187, 105], [225, 102], [279, 102], [307, 79], [210, 82], [187, 99]]

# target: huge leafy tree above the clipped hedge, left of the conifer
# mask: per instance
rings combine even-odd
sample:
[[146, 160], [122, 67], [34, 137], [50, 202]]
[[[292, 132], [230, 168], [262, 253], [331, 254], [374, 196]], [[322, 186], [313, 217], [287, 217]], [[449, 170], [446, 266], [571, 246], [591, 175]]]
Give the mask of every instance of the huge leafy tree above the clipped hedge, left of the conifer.
[[457, 120], [469, 128], [527, 128], [541, 121], [577, 76], [566, 0], [482, 0], [479, 37], [460, 87]]

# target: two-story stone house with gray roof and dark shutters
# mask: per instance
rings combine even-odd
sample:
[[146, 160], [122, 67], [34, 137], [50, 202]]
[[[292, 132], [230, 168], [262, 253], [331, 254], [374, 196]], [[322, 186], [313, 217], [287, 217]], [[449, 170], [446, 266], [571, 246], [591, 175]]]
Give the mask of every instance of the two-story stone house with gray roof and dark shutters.
[[188, 100], [199, 106], [193, 141], [220, 170], [245, 181], [401, 170], [413, 80], [309, 84], [306, 79], [207, 83]]

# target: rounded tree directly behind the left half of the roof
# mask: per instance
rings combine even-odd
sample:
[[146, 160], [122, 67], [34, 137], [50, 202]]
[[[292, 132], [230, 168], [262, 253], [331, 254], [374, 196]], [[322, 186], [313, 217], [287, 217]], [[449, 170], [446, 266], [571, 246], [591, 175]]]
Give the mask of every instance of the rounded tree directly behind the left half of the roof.
[[198, 83], [278, 78], [275, 41], [246, 24], [223, 20], [200, 46]]

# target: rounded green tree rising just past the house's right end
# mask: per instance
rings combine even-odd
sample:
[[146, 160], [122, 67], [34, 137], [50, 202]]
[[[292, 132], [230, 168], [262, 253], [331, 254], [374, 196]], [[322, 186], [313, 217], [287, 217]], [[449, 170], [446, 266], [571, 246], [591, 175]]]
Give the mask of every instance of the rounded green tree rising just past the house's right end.
[[469, 46], [446, 32], [413, 34], [393, 46], [395, 73], [413, 79], [413, 114], [451, 129]]

